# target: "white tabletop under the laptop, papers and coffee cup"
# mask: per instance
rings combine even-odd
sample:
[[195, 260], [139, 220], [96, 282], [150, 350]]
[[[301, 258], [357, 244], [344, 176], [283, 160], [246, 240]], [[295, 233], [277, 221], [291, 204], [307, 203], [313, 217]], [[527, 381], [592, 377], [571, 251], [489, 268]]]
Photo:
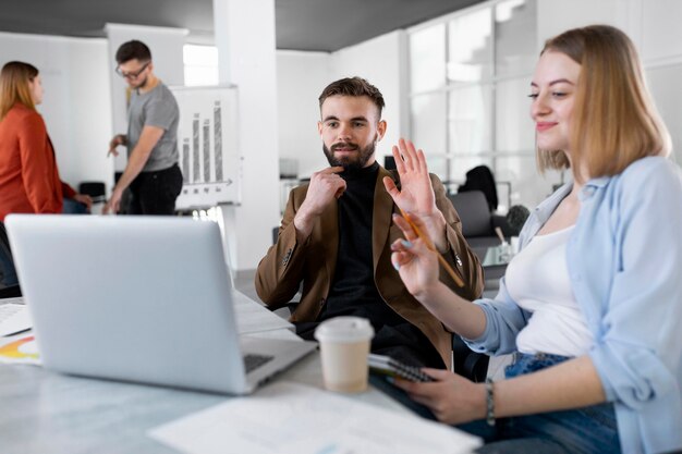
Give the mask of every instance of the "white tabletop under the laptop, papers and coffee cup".
[[[295, 338], [285, 328], [272, 330], [278, 321], [271, 319], [276, 316], [270, 312], [247, 312], [261, 314], [264, 326], [270, 330], [246, 335]], [[304, 358], [278, 379], [321, 389], [319, 353]], [[230, 397], [71, 377], [38, 366], [0, 364], [0, 453], [173, 453], [148, 438], [147, 430], [227, 398]], [[373, 389], [350, 398], [409, 413]]]

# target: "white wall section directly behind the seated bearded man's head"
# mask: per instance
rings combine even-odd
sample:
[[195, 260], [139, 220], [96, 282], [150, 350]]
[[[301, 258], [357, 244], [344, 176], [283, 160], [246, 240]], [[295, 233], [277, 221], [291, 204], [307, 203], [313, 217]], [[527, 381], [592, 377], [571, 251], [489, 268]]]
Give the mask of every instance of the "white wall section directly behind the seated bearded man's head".
[[[277, 52], [280, 158], [297, 159], [299, 175], [309, 176], [328, 165], [317, 133], [317, 98], [331, 82], [361, 76], [383, 95], [388, 124], [377, 147], [377, 160], [410, 131], [407, 102], [406, 35], [392, 32], [337, 52]], [[418, 144], [417, 144], [418, 145]]]

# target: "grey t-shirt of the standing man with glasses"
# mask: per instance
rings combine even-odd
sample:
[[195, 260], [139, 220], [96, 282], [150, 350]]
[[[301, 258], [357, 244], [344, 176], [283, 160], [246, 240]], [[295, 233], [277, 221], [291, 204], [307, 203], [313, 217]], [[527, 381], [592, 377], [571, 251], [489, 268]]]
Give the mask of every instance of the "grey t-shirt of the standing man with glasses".
[[161, 83], [151, 91], [133, 90], [127, 110], [127, 156], [137, 145], [144, 126], [163, 128], [163, 135], [151, 149], [143, 172], [168, 169], [178, 162], [178, 121], [180, 110], [175, 97]]

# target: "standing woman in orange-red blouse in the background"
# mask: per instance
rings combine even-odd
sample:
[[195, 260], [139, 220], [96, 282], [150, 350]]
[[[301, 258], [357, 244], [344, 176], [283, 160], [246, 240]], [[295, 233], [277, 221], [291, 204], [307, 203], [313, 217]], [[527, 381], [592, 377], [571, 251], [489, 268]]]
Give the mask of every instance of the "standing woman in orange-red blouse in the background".
[[[38, 70], [13, 61], [0, 72], [0, 221], [11, 212], [85, 211], [92, 199], [59, 177], [45, 121]], [[64, 201], [69, 207], [64, 210]], [[81, 206], [76, 205], [78, 203]]]

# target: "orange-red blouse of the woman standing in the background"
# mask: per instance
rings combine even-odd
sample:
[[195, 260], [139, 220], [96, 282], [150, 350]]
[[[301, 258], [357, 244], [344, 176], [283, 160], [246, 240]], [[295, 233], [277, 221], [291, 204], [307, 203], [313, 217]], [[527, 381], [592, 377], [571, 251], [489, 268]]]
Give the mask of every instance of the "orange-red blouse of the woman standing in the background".
[[16, 103], [0, 121], [0, 221], [11, 212], [61, 213], [75, 191], [59, 179], [42, 116]]

